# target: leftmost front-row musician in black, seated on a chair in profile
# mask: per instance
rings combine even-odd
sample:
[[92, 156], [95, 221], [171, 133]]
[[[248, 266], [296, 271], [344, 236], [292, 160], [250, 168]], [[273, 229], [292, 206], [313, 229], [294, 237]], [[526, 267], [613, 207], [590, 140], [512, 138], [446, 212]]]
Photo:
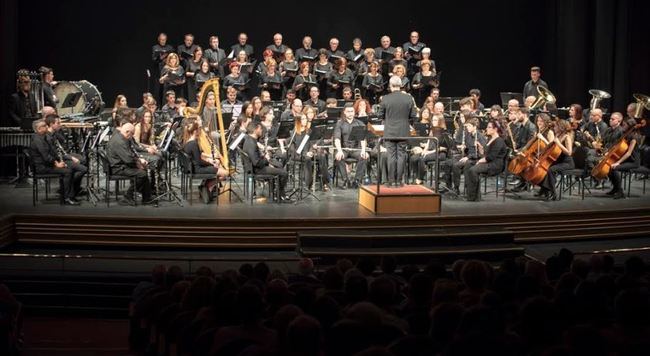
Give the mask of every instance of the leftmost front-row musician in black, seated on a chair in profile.
[[[81, 178], [86, 171], [73, 171], [65, 163], [64, 157], [57, 152], [56, 147], [52, 146], [48, 139], [48, 130], [45, 120], [39, 119], [32, 122], [34, 135], [30, 151], [32, 163], [38, 174], [59, 174], [63, 176], [63, 203], [66, 205], [79, 205], [75, 199], [75, 186], [79, 186]], [[38, 184], [34, 182], [34, 184]]]

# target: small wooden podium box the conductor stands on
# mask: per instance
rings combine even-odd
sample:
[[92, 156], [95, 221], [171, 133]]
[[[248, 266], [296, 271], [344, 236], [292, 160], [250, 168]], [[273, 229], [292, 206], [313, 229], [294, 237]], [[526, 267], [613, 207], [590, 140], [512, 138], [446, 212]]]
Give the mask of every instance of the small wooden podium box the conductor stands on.
[[359, 188], [359, 205], [375, 214], [439, 214], [440, 194], [421, 185], [398, 188], [364, 185]]

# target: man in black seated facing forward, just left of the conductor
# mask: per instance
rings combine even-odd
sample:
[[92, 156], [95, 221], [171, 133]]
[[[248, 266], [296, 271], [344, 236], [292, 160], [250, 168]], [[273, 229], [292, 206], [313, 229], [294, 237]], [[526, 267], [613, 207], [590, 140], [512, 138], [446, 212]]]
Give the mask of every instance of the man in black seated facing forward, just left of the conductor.
[[[339, 170], [339, 179], [343, 182], [339, 183], [341, 189], [358, 188], [359, 184], [363, 182], [363, 177], [366, 174], [366, 162], [368, 160], [368, 152], [366, 152], [366, 140], [354, 141], [350, 139], [353, 127], [364, 127], [361, 120], [354, 118], [354, 107], [348, 105], [343, 109], [343, 117], [336, 123], [334, 127], [334, 147], [336, 148], [336, 166]], [[348, 171], [346, 167], [346, 158], [354, 158], [357, 160], [357, 171], [354, 176], [354, 181], [348, 178]]]

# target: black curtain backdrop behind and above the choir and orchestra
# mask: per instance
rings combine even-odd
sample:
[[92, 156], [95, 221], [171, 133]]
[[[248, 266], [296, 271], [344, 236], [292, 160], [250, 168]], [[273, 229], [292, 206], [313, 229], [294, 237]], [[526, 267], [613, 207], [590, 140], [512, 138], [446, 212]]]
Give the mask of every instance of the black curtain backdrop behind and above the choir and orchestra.
[[148, 88], [150, 49], [161, 31], [172, 45], [191, 32], [204, 48], [210, 35], [218, 35], [223, 48], [244, 31], [259, 56], [275, 32], [294, 49], [309, 34], [316, 48], [336, 36], [348, 50], [354, 37], [364, 47], [378, 46], [382, 35], [401, 45], [417, 30], [443, 71], [443, 96], [480, 88], [486, 105], [499, 103], [499, 92], [522, 90], [533, 65], [542, 67], [559, 106], [587, 104], [590, 88], [610, 92], [613, 98], [604, 104], [616, 111], [625, 110], [632, 93], [650, 94], [650, 5], [643, 0], [2, 4], [3, 113], [16, 70], [41, 65], [53, 67], [57, 80], [96, 84], [108, 106], [120, 93], [139, 106]]

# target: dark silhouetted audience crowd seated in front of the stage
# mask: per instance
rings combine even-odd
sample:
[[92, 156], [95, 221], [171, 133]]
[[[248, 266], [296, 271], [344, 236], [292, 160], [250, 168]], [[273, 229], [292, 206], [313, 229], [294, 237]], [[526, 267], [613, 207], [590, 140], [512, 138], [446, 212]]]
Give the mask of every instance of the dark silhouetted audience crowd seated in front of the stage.
[[[448, 267], [448, 269], [446, 268]], [[649, 274], [641, 258], [546, 263], [341, 259], [295, 274], [260, 262], [186, 278], [157, 266], [133, 293], [137, 354], [645, 355]]]

